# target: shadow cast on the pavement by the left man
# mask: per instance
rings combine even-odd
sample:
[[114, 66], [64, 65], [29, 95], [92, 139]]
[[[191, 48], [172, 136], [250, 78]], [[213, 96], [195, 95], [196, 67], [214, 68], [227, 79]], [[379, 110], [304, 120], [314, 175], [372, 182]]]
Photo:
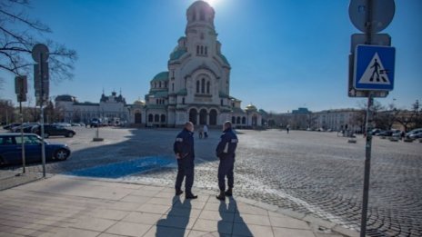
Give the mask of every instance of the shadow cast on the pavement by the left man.
[[173, 197], [173, 205], [166, 215], [166, 219], [156, 222], [156, 237], [184, 237], [189, 223], [192, 205], [190, 200], [181, 202], [180, 196]]

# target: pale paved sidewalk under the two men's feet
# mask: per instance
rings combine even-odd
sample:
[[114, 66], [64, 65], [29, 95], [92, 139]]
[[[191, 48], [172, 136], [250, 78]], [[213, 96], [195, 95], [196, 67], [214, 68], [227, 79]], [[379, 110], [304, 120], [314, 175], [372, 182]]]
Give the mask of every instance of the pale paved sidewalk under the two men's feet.
[[195, 191], [199, 198], [189, 201], [169, 187], [55, 175], [0, 192], [0, 236], [358, 235], [262, 202], [236, 195], [220, 202]]

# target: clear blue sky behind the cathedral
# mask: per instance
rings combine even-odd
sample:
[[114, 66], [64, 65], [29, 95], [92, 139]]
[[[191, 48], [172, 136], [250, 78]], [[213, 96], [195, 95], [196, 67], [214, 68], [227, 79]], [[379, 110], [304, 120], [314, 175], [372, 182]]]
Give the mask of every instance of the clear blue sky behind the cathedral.
[[[166, 71], [169, 54], [184, 35], [193, 0], [36, 0], [28, 14], [49, 25], [47, 35], [77, 51], [75, 78], [51, 84], [51, 95], [73, 94], [98, 102], [122, 90], [132, 103], [149, 81]], [[350, 35], [348, 0], [214, 0], [216, 31], [232, 66], [232, 96], [266, 111], [286, 113], [357, 107], [347, 97]], [[422, 1], [396, 0], [396, 15], [383, 33], [397, 48], [395, 100], [408, 108], [422, 101]], [[14, 76], [0, 91], [15, 101]], [[32, 85], [29, 94], [33, 95]]]

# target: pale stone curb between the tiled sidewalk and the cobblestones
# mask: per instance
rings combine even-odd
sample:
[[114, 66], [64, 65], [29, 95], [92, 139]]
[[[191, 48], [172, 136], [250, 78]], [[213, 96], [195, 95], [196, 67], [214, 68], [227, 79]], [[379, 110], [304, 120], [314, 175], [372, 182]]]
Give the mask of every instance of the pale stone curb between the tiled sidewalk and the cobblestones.
[[[55, 174], [60, 176], [65, 176], [72, 179], [79, 179], [79, 180], [94, 180], [94, 181], [100, 181], [100, 182], [108, 182], [108, 183], [128, 183], [128, 184], [139, 184], [139, 185], [151, 185], [151, 186], [157, 186], [157, 187], [172, 187], [170, 185], [159, 185], [157, 183], [152, 182], [136, 182], [131, 183], [127, 181], [123, 181], [121, 179], [105, 179], [105, 178], [95, 178], [95, 177], [79, 177], [79, 176], [72, 176], [72, 175], [66, 175], [66, 174]], [[203, 188], [197, 188], [199, 189], [199, 193], [204, 193], [208, 195], [216, 194], [215, 191], [206, 190]], [[347, 237], [359, 237], [359, 232], [355, 232], [353, 230], [347, 229], [344, 226], [341, 226], [334, 222], [328, 222], [324, 219], [317, 218], [310, 214], [305, 214], [301, 212], [295, 212], [288, 209], [280, 208], [276, 205], [267, 204], [265, 202], [259, 202], [256, 200], [248, 199], [245, 197], [236, 197], [237, 202], [242, 202], [248, 205], [252, 205], [261, 209], [264, 209], [269, 212], [277, 212], [283, 215], [286, 215], [288, 217], [306, 222], [309, 224], [309, 226], [314, 230], [314, 232], [319, 232], [321, 234], [341, 234]]]

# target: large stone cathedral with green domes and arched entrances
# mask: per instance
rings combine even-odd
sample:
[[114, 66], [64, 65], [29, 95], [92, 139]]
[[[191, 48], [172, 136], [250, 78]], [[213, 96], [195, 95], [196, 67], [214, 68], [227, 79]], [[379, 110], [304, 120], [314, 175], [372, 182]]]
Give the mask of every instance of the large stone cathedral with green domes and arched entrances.
[[132, 105], [132, 123], [176, 127], [186, 121], [211, 126], [231, 121], [237, 127], [261, 126], [256, 106], [242, 109], [241, 101], [230, 95], [231, 66], [217, 39], [214, 16], [204, 1], [189, 6], [185, 36], [169, 55], [168, 70], [150, 81], [145, 102]]

